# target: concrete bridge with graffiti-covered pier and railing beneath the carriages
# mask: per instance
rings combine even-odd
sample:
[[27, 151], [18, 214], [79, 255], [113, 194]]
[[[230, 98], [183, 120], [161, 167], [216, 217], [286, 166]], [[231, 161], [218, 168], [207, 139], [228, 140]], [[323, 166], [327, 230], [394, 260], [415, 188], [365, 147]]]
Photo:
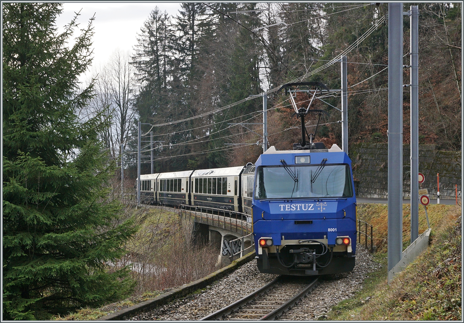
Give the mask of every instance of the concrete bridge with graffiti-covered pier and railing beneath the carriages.
[[191, 228], [194, 239], [220, 246], [218, 266], [228, 265], [254, 250], [251, 216], [245, 213], [181, 204], [179, 214], [182, 225]]

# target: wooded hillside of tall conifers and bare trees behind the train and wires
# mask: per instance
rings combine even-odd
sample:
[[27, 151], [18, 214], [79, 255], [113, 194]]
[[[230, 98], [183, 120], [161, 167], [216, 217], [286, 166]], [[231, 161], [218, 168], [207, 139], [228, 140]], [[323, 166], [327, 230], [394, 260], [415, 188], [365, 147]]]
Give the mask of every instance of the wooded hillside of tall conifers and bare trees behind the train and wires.
[[[404, 11], [410, 3], [404, 4]], [[154, 171], [245, 165], [262, 152], [262, 93], [267, 91], [268, 141], [291, 149], [300, 121], [280, 87], [292, 81], [341, 88], [348, 57], [349, 144], [387, 142], [388, 4], [375, 3], [183, 3], [172, 17], [154, 5], [137, 35], [127, 98], [111, 101], [100, 74], [91, 107], [115, 105], [116, 129], [102, 138], [115, 159], [121, 143], [125, 165], [135, 165], [136, 124], [157, 141]], [[461, 149], [461, 5], [419, 4], [419, 144]], [[409, 65], [409, 17], [404, 16], [404, 65]], [[113, 67], [116, 65], [112, 65]], [[113, 68], [114, 70], [114, 68]], [[121, 78], [122, 77], [122, 78]], [[409, 69], [404, 69], [409, 83]], [[409, 143], [409, 89], [404, 88], [404, 143]], [[252, 95], [259, 95], [252, 97]], [[296, 102], [310, 97], [299, 92]], [[329, 113], [316, 141], [341, 146], [340, 92], [311, 107]], [[238, 124], [242, 123], [242, 124]], [[152, 126], [150, 126], [152, 125]], [[315, 118], [306, 120], [314, 132]], [[151, 132], [151, 134], [150, 134]], [[148, 153], [149, 154], [149, 153]], [[150, 172], [149, 156], [142, 174]], [[143, 163], [145, 161], [146, 163]]]

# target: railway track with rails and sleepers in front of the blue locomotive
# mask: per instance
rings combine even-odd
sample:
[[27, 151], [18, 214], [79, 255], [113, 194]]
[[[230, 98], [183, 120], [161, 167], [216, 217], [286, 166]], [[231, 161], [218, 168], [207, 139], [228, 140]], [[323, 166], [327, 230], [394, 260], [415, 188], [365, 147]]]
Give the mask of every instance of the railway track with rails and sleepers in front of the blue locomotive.
[[301, 301], [317, 285], [317, 277], [298, 278], [279, 276], [269, 284], [248, 296], [216, 312], [201, 321], [273, 320]]

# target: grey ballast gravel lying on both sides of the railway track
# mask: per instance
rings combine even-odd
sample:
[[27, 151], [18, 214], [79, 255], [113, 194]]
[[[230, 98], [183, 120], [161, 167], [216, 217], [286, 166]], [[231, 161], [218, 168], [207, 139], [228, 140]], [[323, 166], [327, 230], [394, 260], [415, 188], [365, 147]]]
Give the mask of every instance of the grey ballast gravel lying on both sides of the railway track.
[[[320, 320], [338, 302], [354, 296], [370, 272], [380, 268], [372, 255], [357, 246], [356, 265], [352, 272], [322, 276], [318, 285], [301, 302], [286, 311], [279, 320]], [[128, 320], [199, 320], [244, 298], [269, 283], [277, 275], [258, 271], [256, 260], [241, 266], [198, 294], [175, 300]]]

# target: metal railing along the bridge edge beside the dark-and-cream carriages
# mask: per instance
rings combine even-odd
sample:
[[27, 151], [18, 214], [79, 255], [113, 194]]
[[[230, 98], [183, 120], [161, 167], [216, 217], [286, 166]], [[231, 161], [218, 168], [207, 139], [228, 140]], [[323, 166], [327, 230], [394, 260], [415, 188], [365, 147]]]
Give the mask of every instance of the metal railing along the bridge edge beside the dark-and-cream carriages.
[[[209, 212], [208, 212], [209, 211]], [[223, 209], [214, 209], [210, 207], [195, 207], [185, 204], [180, 205], [180, 212], [185, 212], [195, 219], [195, 222], [200, 222], [213, 227], [223, 228], [241, 235], [251, 234], [251, 223], [242, 220], [239, 217], [245, 218], [245, 213], [237, 211], [228, 211]], [[222, 215], [221, 215], [222, 214]]]

